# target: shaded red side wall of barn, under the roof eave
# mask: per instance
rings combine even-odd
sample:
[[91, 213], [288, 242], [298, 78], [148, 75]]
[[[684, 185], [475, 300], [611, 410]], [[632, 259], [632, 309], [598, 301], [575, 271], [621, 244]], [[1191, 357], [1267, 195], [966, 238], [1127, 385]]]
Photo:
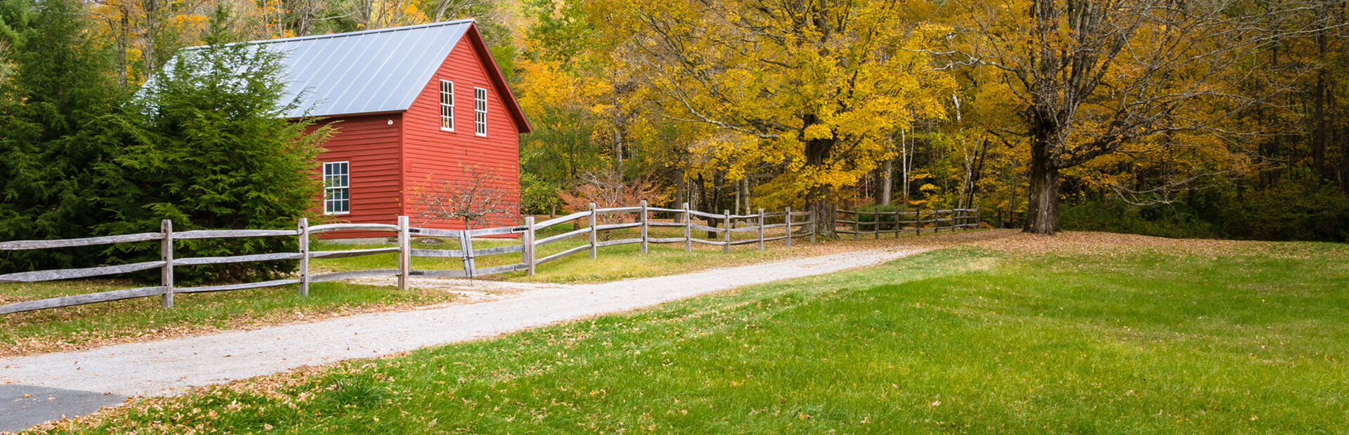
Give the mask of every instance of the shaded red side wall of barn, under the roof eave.
[[[393, 121], [393, 125], [389, 123]], [[336, 117], [332, 136], [318, 155], [320, 162], [351, 163], [351, 213], [329, 215], [331, 222], [397, 224], [402, 211], [402, 162], [399, 152], [402, 113]], [[321, 167], [320, 167], [321, 171]], [[317, 175], [317, 174], [316, 174]], [[322, 213], [322, 198], [317, 201]], [[341, 232], [325, 238], [384, 237], [394, 233]]]

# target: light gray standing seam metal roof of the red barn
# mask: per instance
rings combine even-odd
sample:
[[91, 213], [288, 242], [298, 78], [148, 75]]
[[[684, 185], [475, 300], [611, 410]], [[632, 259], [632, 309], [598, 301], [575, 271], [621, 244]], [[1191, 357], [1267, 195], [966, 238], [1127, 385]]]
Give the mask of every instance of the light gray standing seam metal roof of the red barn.
[[286, 117], [406, 110], [472, 19], [363, 32], [254, 40], [282, 53]]

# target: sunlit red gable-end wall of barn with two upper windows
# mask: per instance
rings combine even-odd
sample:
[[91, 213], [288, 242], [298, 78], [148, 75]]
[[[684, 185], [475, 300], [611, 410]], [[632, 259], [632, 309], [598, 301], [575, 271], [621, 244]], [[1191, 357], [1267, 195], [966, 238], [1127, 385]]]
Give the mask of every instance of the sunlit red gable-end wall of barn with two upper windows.
[[[469, 38], [478, 35], [469, 31], [459, 40], [405, 114], [407, 125], [403, 129], [406, 152], [403, 174], [409, 203], [403, 211], [413, 217], [414, 225], [421, 220], [417, 218], [418, 210], [411, 206], [411, 191], [420, 185], [426, 185], [428, 176], [464, 182], [461, 166], [488, 170], [499, 178], [495, 187], [507, 193], [517, 213], [498, 217], [496, 225], [519, 222], [519, 127], [505, 105], [505, 98], [511, 98], [510, 90], [492, 83], [487, 69], [495, 66], [487, 61], [488, 54], [480, 53]], [[455, 82], [453, 132], [440, 129], [441, 79]], [[473, 135], [473, 88], [487, 89], [486, 137]], [[426, 226], [459, 229], [463, 224], [436, 222]]]

